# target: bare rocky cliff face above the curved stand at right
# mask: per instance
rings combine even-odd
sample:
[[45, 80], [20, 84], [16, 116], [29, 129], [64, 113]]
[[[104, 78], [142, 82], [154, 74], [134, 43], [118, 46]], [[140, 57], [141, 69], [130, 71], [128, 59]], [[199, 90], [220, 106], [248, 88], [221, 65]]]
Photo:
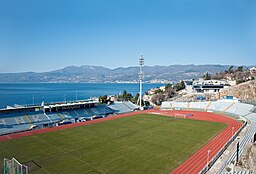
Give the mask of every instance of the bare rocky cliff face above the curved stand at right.
[[226, 95], [237, 97], [242, 102], [256, 103], [256, 80], [241, 83], [220, 92], [220, 97]]

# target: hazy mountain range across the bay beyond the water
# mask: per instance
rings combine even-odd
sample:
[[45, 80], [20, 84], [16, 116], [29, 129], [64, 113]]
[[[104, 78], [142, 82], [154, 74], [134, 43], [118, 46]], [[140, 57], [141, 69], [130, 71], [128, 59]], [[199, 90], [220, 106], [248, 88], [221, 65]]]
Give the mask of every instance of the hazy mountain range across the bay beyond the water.
[[[144, 82], [177, 82], [184, 79], [197, 79], [204, 73], [214, 74], [225, 71], [231, 65], [169, 65], [144, 66]], [[234, 69], [237, 66], [234, 66]], [[251, 66], [244, 66], [249, 68]], [[119, 67], [109, 69], [102, 66], [67, 66], [49, 72], [0, 73], [0, 82], [49, 82], [49, 83], [115, 83], [137, 82], [139, 67]]]

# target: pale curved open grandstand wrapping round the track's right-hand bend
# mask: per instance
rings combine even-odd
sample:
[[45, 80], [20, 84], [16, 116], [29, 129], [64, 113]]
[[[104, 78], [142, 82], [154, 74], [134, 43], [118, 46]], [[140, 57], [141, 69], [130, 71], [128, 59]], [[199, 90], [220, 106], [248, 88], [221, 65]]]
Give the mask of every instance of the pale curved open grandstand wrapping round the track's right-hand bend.
[[[245, 133], [240, 140], [239, 155], [242, 154], [245, 145], [252, 141], [256, 133], [256, 114], [252, 113], [254, 106], [250, 104], [240, 103], [237, 101], [209, 101], [209, 102], [171, 102], [165, 101], [161, 105], [161, 109], [192, 109], [192, 110], [204, 110], [213, 111], [227, 114], [229, 116], [242, 116], [247, 120], [248, 131]], [[237, 135], [234, 135], [237, 136]], [[233, 137], [231, 140], [234, 140]], [[226, 148], [226, 147], [225, 147]], [[224, 147], [222, 152], [224, 151]], [[221, 152], [221, 153], [222, 153]], [[217, 155], [220, 155], [219, 153]], [[216, 156], [217, 156], [216, 155]], [[215, 158], [215, 157], [214, 157]], [[232, 161], [236, 160], [236, 152], [233, 152], [231, 157], [226, 161], [226, 163], [220, 168], [219, 173], [222, 173], [227, 165]], [[208, 167], [205, 167], [208, 170]], [[241, 171], [241, 173], [247, 173], [247, 171]]]

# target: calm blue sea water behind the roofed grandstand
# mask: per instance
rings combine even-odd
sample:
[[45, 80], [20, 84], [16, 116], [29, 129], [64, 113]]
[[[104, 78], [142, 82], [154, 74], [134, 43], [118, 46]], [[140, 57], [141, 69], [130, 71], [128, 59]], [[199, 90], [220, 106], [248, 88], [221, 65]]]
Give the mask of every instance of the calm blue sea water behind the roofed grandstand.
[[[143, 92], [161, 84], [143, 84]], [[40, 104], [84, 100], [100, 95], [115, 95], [124, 90], [136, 95], [139, 84], [88, 84], [88, 83], [0, 83], [0, 108], [7, 105]]]

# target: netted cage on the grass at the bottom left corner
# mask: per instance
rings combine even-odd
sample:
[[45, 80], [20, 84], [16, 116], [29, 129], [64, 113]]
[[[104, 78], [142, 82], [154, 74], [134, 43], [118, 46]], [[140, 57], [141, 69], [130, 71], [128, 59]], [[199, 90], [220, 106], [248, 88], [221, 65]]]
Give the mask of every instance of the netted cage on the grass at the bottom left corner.
[[28, 174], [28, 167], [15, 158], [4, 158], [4, 174]]

